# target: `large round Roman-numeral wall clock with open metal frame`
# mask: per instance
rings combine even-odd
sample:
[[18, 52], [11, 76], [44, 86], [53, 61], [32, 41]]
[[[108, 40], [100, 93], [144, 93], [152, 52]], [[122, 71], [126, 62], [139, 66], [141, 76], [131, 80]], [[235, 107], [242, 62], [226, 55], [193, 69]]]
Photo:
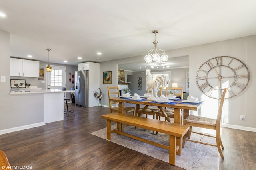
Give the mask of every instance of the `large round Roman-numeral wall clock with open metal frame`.
[[234, 57], [214, 57], [202, 64], [196, 72], [196, 84], [207, 96], [220, 99], [224, 88], [225, 98], [232, 98], [248, 86], [250, 72], [247, 66]]

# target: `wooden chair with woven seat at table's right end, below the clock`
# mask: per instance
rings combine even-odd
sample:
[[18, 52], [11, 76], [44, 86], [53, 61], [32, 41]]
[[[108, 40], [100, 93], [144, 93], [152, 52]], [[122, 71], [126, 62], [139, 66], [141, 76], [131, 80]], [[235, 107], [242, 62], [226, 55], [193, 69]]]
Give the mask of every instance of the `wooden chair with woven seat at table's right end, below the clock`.
[[[220, 137], [220, 119], [221, 119], [221, 115], [222, 115], [222, 107], [223, 107], [226, 91], [227, 91], [227, 88], [224, 88], [223, 93], [222, 93], [222, 97], [220, 99], [220, 105], [219, 105], [218, 114], [217, 114], [216, 119], [194, 116], [194, 115], [190, 115], [186, 119], [184, 119], [184, 125], [189, 125], [189, 131], [188, 131], [188, 139], [183, 140], [182, 147], [185, 146], [186, 141], [201, 143], [201, 144], [204, 144], [204, 145], [215, 146], [215, 147], [218, 148], [220, 156], [222, 158], [224, 158], [224, 156], [222, 154], [222, 151], [221, 151], [221, 148], [224, 149], [224, 146], [222, 144], [221, 137]], [[194, 131], [192, 131], [192, 127], [213, 129], [213, 130], [215, 130], [215, 136], [208, 135], [208, 134], [205, 134], [205, 133], [194, 132]], [[190, 139], [190, 136], [191, 136], [192, 132], [202, 135], [200, 141], [194, 141], [194, 140]], [[216, 138], [216, 145], [203, 142], [202, 140], [203, 140], [204, 136]]]

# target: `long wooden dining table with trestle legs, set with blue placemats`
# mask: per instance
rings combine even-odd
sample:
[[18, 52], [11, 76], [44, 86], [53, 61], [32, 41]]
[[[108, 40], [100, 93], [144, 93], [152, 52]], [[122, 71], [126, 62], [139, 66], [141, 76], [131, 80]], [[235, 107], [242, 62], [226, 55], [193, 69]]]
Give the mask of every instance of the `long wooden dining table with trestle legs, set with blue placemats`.
[[182, 101], [174, 101], [174, 102], [176, 102], [175, 104], [165, 104], [165, 103], [152, 102], [151, 100], [139, 101], [139, 100], [130, 100], [130, 99], [126, 99], [126, 98], [110, 98], [109, 100], [113, 101], [113, 102], [119, 102], [119, 113], [124, 113], [124, 103], [136, 104], [136, 108], [138, 108], [138, 109], [141, 108], [140, 105], [145, 105], [144, 108], [142, 109], [142, 112], [138, 116], [141, 116], [143, 114], [143, 112], [148, 108], [148, 106], [156, 106], [162, 112], [162, 114], [164, 115], [166, 120], [169, 122], [171, 122], [171, 120], [168, 117], [168, 115], [166, 114], [166, 112], [164, 111], [164, 108], [165, 107], [173, 108], [174, 109], [174, 123], [179, 123], [179, 124], [182, 123], [182, 119], [181, 119], [182, 118], [181, 117], [182, 109], [184, 110], [184, 119], [186, 119], [186, 117], [188, 117], [188, 115], [189, 115], [190, 110], [198, 111], [198, 109], [200, 109], [203, 104], [203, 102], [201, 102], [198, 105], [190, 104], [190, 103], [182, 104], [182, 103], [180, 103]]

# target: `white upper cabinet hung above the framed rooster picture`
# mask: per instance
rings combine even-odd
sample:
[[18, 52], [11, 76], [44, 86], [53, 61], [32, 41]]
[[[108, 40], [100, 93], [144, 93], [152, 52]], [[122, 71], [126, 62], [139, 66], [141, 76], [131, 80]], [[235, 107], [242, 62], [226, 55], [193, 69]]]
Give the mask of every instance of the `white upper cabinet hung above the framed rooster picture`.
[[10, 58], [10, 76], [39, 77], [39, 61]]

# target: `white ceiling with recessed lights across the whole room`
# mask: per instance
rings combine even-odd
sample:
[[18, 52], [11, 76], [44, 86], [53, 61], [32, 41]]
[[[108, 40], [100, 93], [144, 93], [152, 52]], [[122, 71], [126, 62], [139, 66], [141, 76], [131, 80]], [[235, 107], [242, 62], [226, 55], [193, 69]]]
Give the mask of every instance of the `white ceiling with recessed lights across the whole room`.
[[0, 0], [0, 30], [12, 57], [48, 62], [50, 48], [51, 63], [78, 65], [146, 55], [154, 29], [163, 50], [255, 35], [255, 9], [256, 0]]

